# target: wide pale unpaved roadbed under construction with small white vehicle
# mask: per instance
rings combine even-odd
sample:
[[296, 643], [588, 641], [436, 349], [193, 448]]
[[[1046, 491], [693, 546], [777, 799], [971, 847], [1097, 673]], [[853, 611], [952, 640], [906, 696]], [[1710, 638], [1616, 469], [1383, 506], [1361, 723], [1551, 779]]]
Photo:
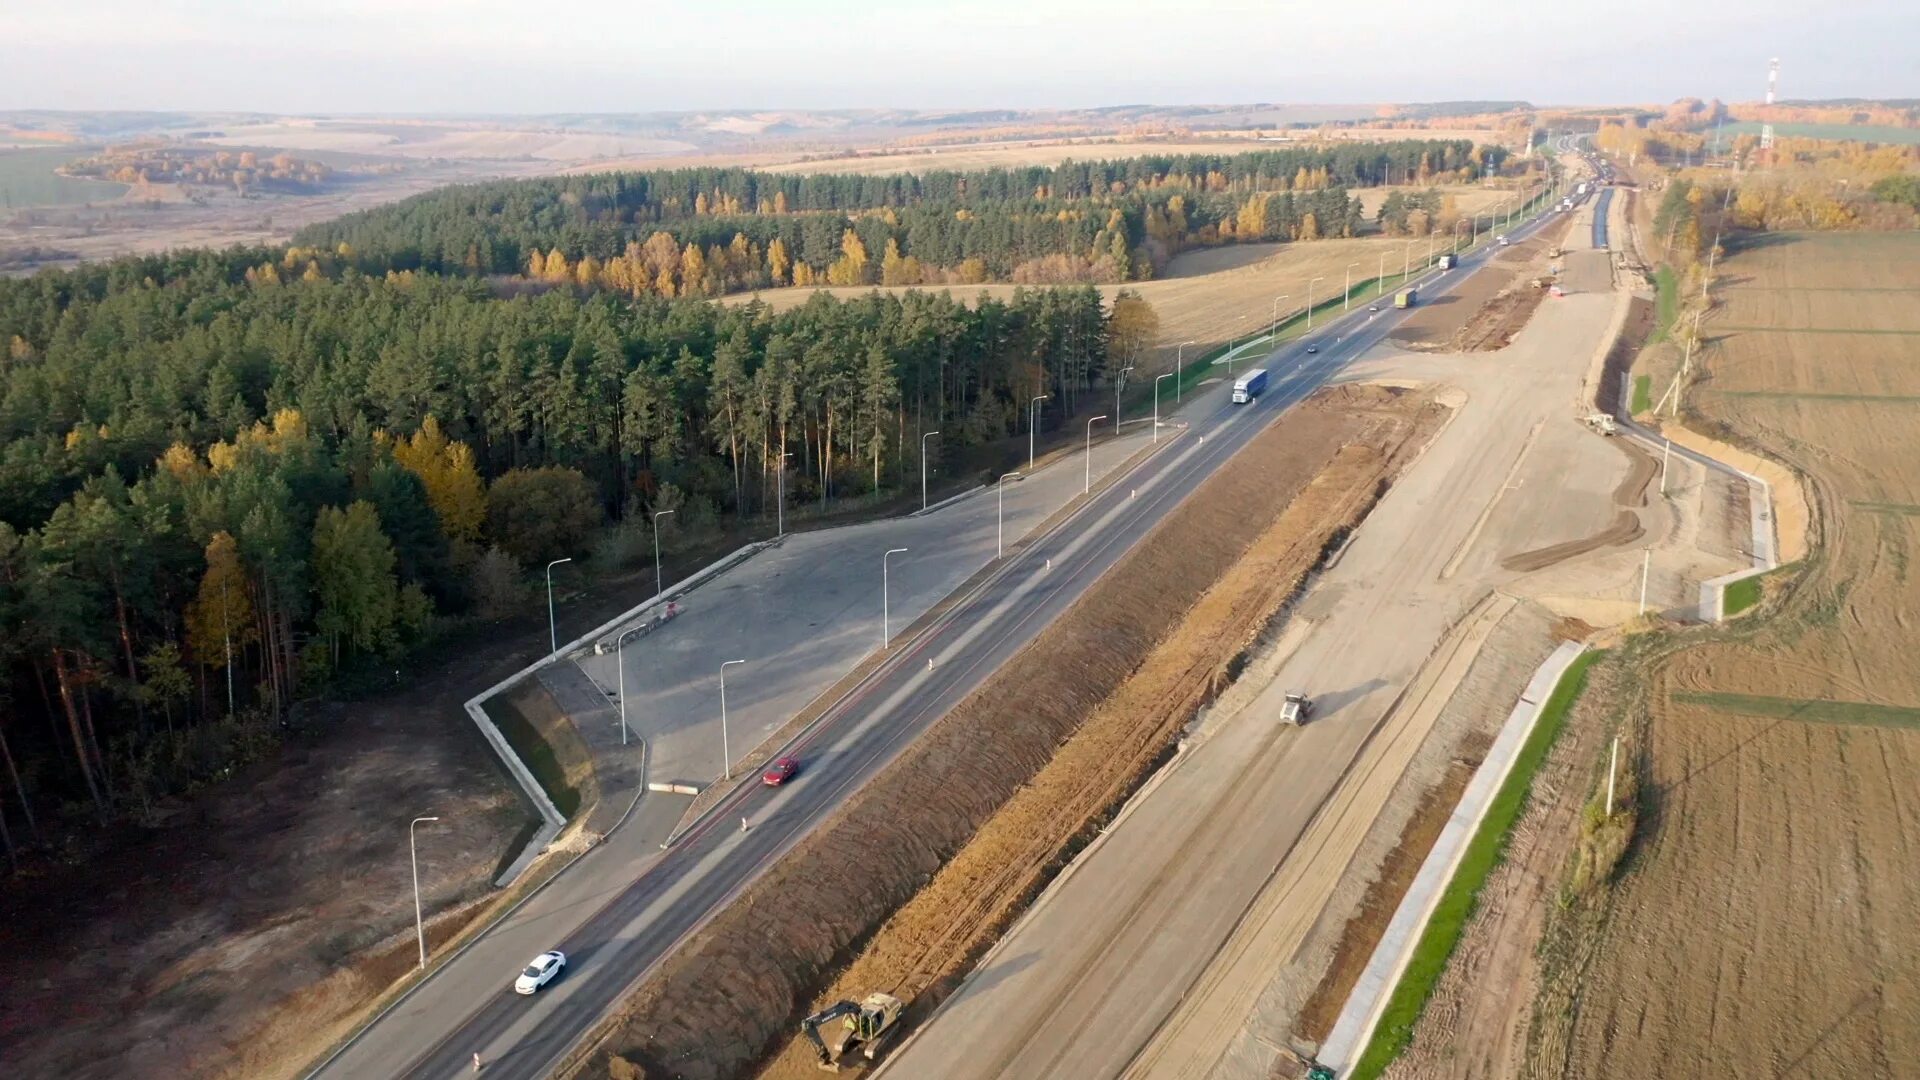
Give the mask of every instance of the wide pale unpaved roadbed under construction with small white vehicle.
[[[1248, 1042], [1254, 999], [1357, 844], [1296, 847], [1342, 771], [1446, 630], [1521, 577], [1501, 559], [1613, 519], [1628, 459], [1584, 432], [1571, 405], [1617, 306], [1569, 296], [1515, 346], [1463, 367], [1471, 388], [1455, 419], [1300, 605], [1309, 630], [1271, 686], [1156, 778], [885, 1076], [1202, 1076]], [[1386, 329], [1321, 363], [1344, 365]], [[1352, 375], [1392, 377], [1398, 356], [1369, 354]], [[1311, 724], [1275, 730], [1286, 690], [1315, 696]], [[1382, 798], [1396, 778], [1377, 776]], [[1236, 934], [1275, 882], [1284, 903], [1258, 934]], [[1244, 1063], [1248, 1074], [1265, 1074], [1277, 1042], [1269, 1061]]]

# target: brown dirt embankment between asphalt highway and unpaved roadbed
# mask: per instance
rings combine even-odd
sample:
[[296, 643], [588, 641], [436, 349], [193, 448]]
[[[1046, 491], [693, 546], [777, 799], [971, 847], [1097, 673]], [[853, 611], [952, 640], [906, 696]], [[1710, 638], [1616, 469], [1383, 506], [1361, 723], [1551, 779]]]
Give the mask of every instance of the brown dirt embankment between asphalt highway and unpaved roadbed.
[[[739, 1074], [829, 986], [891, 990], [910, 999], [908, 1020], [924, 1017], [1160, 759], [1327, 536], [1371, 502], [1411, 427], [1411, 396], [1327, 398], [1217, 471], [672, 957], [580, 1072], [601, 1074], [616, 1051], [647, 1076]], [[1296, 496], [1313, 509], [1286, 538], [1275, 523]], [[1263, 571], [1217, 588], [1248, 552]], [[797, 1051], [774, 1068], [812, 1074]]]

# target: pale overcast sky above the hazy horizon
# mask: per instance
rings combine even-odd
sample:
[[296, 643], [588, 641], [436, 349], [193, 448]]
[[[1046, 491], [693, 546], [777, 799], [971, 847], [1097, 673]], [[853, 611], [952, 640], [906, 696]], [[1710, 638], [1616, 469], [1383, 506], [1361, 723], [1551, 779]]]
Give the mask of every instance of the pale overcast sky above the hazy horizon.
[[0, 108], [1920, 96], [1920, 0], [0, 0]]

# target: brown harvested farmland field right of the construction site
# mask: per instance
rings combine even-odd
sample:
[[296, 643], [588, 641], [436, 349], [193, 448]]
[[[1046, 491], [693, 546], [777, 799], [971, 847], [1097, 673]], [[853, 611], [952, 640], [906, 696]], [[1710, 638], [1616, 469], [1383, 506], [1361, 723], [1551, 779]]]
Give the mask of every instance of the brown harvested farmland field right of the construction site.
[[1920, 236], [1768, 234], [1722, 265], [1695, 425], [1803, 471], [1824, 550], [1764, 623], [1655, 661], [1644, 834], [1538, 1065], [1914, 1076]]

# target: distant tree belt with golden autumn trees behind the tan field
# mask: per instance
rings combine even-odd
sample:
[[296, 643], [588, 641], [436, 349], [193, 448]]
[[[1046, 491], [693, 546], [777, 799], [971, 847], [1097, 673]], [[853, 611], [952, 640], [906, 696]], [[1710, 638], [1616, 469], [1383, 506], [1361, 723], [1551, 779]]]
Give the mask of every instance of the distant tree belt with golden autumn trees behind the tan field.
[[1361, 217], [1348, 188], [1475, 179], [1503, 161], [1471, 140], [1402, 140], [885, 177], [591, 173], [444, 188], [296, 242], [346, 250], [363, 273], [524, 275], [630, 296], [1139, 281], [1188, 246], [1350, 236]]

